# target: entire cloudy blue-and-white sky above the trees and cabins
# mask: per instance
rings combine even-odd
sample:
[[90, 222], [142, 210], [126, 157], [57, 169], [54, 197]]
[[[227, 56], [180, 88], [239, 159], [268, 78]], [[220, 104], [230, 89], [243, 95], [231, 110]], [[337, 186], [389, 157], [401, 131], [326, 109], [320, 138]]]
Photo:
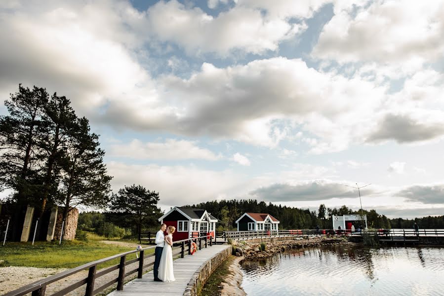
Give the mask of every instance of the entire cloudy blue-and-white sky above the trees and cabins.
[[2, 0], [0, 40], [0, 101], [67, 96], [115, 192], [444, 215], [444, 0]]

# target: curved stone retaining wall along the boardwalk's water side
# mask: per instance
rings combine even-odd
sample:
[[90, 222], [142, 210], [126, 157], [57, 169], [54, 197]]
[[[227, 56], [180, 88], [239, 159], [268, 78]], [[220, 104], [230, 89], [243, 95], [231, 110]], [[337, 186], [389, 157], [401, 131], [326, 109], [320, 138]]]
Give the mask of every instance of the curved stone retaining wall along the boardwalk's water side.
[[210, 275], [220, 266], [220, 264], [222, 264], [223, 261], [230, 257], [231, 253], [232, 247], [228, 245], [225, 250], [219, 252], [211, 259], [206, 260], [191, 278], [183, 295], [198, 296], [199, 291], [202, 289]]

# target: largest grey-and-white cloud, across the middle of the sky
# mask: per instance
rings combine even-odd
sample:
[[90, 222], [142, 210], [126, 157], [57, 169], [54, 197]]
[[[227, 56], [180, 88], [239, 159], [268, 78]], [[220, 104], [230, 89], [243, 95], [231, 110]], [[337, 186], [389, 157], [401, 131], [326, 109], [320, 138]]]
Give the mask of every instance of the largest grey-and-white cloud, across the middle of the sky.
[[[325, 74], [283, 57], [226, 68], [204, 63], [189, 79], [168, 75], [162, 85], [170, 100], [187, 98], [178, 106], [184, 110], [177, 118], [181, 133], [274, 147], [299, 123], [324, 140], [313, 145], [317, 153], [342, 150], [362, 137], [385, 92], [371, 82]], [[357, 97], [362, 104], [351, 105]]]

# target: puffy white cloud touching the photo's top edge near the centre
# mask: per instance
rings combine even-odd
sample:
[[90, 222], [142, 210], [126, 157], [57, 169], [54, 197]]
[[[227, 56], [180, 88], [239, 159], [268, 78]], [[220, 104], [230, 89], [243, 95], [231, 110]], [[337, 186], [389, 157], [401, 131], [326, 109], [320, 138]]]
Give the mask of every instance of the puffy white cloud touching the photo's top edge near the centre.
[[[208, 2], [210, 8], [217, 4]], [[279, 42], [306, 29], [279, 17], [266, 18], [259, 9], [236, 5], [213, 17], [199, 7], [176, 1], [159, 1], [147, 10], [147, 33], [173, 42], [188, 54], [212, 52], [227, 56], [238, 49], [261, 54], [275, 51]]]

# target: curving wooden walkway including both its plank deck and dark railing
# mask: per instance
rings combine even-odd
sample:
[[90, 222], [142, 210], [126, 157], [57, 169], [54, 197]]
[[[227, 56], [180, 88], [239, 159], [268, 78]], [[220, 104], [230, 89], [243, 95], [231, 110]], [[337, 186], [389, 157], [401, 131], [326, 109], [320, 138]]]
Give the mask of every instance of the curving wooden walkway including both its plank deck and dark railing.
[[[191, 255], [193, 241], [197, 244], [198, 250]], [[3, 296], [24, 296], [29, 293], [32, 296], [93, 296], [98, 293], [103, 295], [103, 293], [106, 294], [107, 291], [110, 291], [116, 283], [117, 291], [111, 293], [113, 296], [129, 294], [182, 296], [193, 275], [202, 264], [227, 248], [231, 250], [231, 246], [220, 242], [216, 244], [208, 236], [185, 239], [174, 243], [175, 246], [172, 248], [173, 258], [179, 258], [173, 262], [176, 281], [172, 283], [154, 282], [152, 271], [144, 274], [154, 265], [154, 253], [147, 254], [150, 249], [156, 248], [156, 246], [151, 246], [140, 251], [125, 252], [83, 264], [41, 279]], [[129, 259], [136, 257], [136, 255], [137, 258]], [[99, 264], [113, 260], [120, 260], [120, 263], [100, 270], [97, 268]], [[135, 273], [137, 273], [137, 279], [125, 284], [128, 280], [134, 278]], [[77, 275], [75, 281], [72, 278], [70, 279], [73, 275]]]

